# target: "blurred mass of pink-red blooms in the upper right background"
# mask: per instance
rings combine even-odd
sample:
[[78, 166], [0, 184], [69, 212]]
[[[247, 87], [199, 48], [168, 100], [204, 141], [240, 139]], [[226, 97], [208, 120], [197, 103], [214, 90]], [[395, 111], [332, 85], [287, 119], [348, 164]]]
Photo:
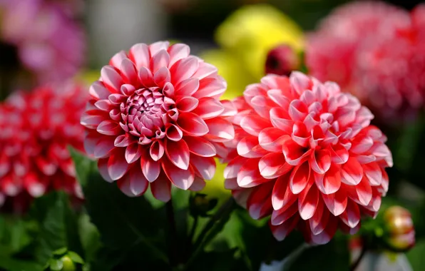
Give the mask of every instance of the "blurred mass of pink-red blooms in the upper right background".
[[339, 83], [381, 120], [414, 116], [425, 96], [424, 11], [414, 14], [381, 2], [336, 9], [309, 36], [309, 72]]

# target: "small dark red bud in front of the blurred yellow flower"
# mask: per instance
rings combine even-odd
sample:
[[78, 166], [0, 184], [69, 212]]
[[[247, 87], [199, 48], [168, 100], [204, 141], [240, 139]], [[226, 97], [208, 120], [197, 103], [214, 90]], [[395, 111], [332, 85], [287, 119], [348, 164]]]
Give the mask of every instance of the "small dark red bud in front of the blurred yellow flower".
[[265, 72], [279, 76], [289, 76], [292, 71], [299, 68], [299, 57], [292, 47], [282, 44], [275, 47], [267, 54]]

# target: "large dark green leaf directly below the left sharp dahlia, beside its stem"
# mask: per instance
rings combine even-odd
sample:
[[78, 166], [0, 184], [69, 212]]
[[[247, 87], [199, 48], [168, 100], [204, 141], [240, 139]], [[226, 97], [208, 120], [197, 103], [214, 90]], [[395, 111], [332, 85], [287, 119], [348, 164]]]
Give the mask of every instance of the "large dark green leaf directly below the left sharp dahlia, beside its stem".
[[167, 225], [163, 208], [155, 210], [143, 197], [129, 198], [116, 184], [103, 180], [95, 161], [81, 156], [77, 158], [74, 163], [79, 178], [83, 180], [86, 210], [98, 228], [103, 244], [121, 249], [123, 253], [141, 242], [144, 246], [140, 255], [152, 261], [158, 258], [167, 261], [163, 252], [163, 227]]

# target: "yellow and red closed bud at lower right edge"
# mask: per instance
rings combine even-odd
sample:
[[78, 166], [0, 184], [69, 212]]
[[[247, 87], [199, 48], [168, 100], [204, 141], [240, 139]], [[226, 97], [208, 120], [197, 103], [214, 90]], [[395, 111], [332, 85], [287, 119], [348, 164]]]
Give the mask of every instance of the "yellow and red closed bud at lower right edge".
[[391, 206], [384, 213], [385, 242], [391, 250], [406, 251], [415, 244], [415, 232], [409, 210], [400, 206]]

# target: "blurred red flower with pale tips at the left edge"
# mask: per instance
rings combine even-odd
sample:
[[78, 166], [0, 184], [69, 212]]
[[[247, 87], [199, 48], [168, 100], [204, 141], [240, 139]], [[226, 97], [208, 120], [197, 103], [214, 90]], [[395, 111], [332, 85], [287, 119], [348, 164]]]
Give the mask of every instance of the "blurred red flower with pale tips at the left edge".
[[[0, 203], [64, 190], [81, 198], [68, 145], [83, 150], [86, 91], [68, 84], [15, 93], [0, 106]], [[3, 200], [1, 200], [3, 199]]]

